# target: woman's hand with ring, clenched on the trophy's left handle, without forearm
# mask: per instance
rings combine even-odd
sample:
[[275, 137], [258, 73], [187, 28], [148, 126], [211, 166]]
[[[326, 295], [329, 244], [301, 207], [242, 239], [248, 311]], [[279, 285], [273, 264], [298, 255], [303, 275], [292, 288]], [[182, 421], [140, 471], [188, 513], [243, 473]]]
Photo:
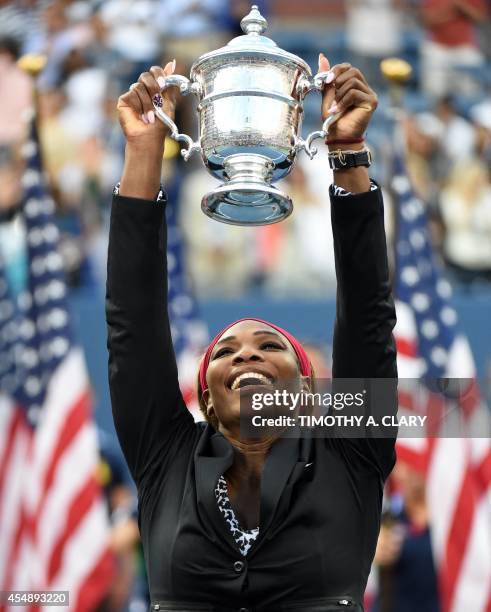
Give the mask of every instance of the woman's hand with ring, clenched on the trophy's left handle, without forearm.
[[168, 62], [164, 68], [152, 66], [148, 72], [142, 72], [138, 81], [118, 100], [118, 114], [121, 128], [130, 145], [149, 151], [163, 150], [165, 137], [169, 128], [155, 117], [153, 98], [162, 97], [164, 112], [174, 118], [176, 105], [175, 87], [161, 93], [166, 76], [171, 75], [176, 61]]

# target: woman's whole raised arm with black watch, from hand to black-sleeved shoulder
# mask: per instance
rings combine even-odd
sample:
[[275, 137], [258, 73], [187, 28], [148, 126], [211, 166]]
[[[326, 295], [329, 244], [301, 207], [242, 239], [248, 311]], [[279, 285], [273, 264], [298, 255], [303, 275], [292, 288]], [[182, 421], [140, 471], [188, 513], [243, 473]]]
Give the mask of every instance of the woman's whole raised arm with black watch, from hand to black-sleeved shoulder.
[[[324, 57], [319, 67], [329, 69]], [[362, 150], [377, 96], [363, 74], [349, 64], [335, 66], [332, 72], [331, 85], [323, 96], [323, 117], [328, 112], [344, 114], [329, 133], [330, 152]], [[333, 104], [337, 108], [333, 109]], [[370, 183], [365, 166], [335, 169], [331, 218], [337, 276], [333, 377], [392, 379], [384, 383], [387, 401], [377, 408], [393, 415], [397, 412], [396, 348], [392, 335], [396, 315], [389, 282], [382, 193]], [[385, 478], [395, 460], [395, 437], [391, 433], [379, 439], [348, 436], [350, 460], [354, 452], [364, 465], [371, 465]]]

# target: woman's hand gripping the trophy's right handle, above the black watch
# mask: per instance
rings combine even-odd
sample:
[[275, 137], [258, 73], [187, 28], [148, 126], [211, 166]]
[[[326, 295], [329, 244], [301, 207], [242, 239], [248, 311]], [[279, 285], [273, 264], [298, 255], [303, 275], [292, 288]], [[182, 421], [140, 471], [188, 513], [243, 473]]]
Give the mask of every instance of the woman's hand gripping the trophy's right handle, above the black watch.
[[329, 140], [350, 140], [365, 134], [377, 108], [377, 94], [368, 85], [363, 73], [351, 64], [332, 68], [327, 57], [319, 55], [319, 72], [330, 71], [332, 81], [324, 86], [322, 121], [336, 112], [343, 115], [329, 129]]

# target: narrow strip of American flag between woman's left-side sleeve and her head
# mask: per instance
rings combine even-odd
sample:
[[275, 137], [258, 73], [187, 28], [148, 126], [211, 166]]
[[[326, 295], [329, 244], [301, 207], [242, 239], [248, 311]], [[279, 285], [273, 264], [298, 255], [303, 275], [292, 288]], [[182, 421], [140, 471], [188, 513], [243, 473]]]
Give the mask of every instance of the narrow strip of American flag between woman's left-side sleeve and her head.
[[176, 202], [177, 197], [172, 197], [166, 206], [169, 320], [181, 392], [195, 420], [201, 421], [203, 416], [197, 404], [196, 381], [199, 360], [208, 343], [208, 329], [200, 317], [186, 271], [185, 244]]

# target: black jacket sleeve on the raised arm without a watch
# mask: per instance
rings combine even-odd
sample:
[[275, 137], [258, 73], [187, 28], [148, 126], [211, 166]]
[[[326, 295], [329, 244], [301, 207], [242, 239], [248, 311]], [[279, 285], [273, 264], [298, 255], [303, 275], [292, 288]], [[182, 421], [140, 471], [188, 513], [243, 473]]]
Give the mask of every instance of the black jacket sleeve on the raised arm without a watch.
[[164, 212], [160, 202], [113, 197], [109, 386], [116, 432], [137, 486], [170, 460], [176, 441], [194, 427], [179, 389], [167, 314]]

